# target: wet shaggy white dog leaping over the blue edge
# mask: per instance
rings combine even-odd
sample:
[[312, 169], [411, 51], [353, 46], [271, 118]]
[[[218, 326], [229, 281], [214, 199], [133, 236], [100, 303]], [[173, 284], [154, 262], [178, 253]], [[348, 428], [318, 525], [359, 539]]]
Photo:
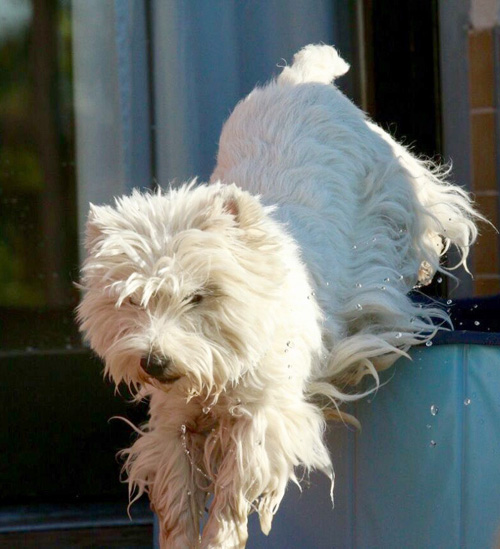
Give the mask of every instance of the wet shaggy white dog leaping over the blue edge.
[[479, 216], [331, 85], [347, 69], [306, 47], [236, 107], [210, 185], [91, 207], [78, 316], [150, 400], [125, 468], [162, 547], [243, 547], [252, 511], [268, 533], [299, 466], [333, 484], [325, 416], [447, 321], [407, 293], [450, 244], [465, 264]]

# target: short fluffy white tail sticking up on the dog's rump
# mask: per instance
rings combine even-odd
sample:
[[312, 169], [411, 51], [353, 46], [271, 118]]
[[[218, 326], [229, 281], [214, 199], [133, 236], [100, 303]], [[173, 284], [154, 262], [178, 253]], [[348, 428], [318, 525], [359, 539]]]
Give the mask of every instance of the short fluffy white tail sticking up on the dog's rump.
[[278, 84], [320, 82], [330, 84], [349, 70], [349, 64], [332, 46], [310, 44], [293, 57], [293, 64], [285, 67]]

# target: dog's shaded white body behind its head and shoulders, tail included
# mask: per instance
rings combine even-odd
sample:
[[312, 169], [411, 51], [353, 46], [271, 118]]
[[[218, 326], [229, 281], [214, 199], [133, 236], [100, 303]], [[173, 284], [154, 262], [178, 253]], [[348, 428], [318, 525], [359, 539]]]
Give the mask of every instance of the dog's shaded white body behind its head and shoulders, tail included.
[[299, 243], [326, 316], [324, 379], [376, 375], [447, 322], [407, 293], [445, 272], [439, 260], [451, 244], [465, 263], [480, 217], [461, 189], [330, 84], [347, 69], [332, 47], [304, 48], [236, 107], [212, 176], [277, 205]]

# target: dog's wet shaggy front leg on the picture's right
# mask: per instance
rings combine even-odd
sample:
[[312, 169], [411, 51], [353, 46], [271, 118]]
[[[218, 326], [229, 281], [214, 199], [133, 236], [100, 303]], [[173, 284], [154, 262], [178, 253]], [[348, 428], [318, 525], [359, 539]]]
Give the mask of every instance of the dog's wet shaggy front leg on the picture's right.
[[[287, 483], [295, 479], [295, 466], [319, 469], [333, 478], [322, 414], [301, 398], [286, 404], [247, 408], [243, 417], [221, 420], [212, 435], [220, 464], [212, 473], [214, 499], [202, 534], [203, 549], [244, 547], [247, 517], [253, 510], [262, 531], [269, 534]], [[209, 438], [207, 445], [211, 442]]]

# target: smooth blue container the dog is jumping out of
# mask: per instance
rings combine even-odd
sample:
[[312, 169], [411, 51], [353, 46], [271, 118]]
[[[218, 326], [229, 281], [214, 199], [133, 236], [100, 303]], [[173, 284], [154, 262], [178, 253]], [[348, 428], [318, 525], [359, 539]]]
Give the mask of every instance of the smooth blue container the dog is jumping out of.
[[360, 433], [332, 426], [328, 483], [287, 492], [268, 538], [249, 548], [491, 548], [500, 530], [500, 347], [454, 333], [413, 349], [356, 405]]

